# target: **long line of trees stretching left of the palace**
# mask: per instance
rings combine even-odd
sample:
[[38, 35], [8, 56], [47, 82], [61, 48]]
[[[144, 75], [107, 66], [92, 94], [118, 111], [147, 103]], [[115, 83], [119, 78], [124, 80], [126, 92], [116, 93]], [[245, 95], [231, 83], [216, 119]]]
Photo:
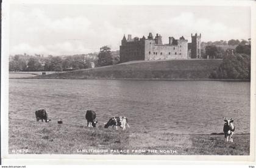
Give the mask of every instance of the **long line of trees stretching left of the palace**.
[[103, 46], [99, 53], [52, 56], [27, 55], [10, 56], [9, 71], [71, 71], [119, 63], [119, 51]]

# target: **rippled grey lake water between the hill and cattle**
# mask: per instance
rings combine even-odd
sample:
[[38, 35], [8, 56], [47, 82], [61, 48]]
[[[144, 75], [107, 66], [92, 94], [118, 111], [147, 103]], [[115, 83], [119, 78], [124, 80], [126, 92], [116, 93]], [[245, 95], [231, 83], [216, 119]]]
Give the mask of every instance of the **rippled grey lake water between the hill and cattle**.
[[10, 122], [35, 121], [41, 108], [56, 124], [62, 118], [85, 125], [85, 111], [94, 110], [97, 127], [112, 116], [126, 116], [133, 132], [210, 134], [222, 132], [225, 116], [234, 119], [236, 133], [249, 133], [250, 82], [9, 80]]

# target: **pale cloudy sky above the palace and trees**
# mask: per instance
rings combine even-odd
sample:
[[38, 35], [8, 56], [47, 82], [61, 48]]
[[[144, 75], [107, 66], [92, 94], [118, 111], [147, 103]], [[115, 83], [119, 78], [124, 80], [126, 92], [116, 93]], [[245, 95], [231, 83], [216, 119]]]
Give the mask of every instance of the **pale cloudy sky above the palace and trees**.
[[250, 7], [174, 5], [12, 4], [10, 54], [74, 55], [119, 50], [124, 35], [201, 33], [201, 41], [251, 38]]

